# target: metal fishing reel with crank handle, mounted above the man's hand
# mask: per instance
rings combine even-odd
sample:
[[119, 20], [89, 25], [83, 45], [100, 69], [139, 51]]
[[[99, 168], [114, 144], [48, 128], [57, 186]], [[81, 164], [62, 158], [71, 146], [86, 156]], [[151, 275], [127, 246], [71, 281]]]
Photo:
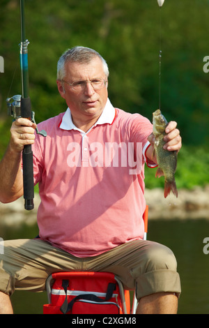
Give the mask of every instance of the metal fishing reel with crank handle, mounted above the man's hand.
[[[17, 94], [16, 96], [13, 96], [11, 98], [6, 99], [7, 108], [8, 108], [8, 116], [12, 116], [14, 119], [18, 119], [21, 116], [21, 98], [22, 96], [20, 94]], [[13, 103], [10, 103], [10, 100], [13, 99]], [[36, 124], [35, 121], [35, 112], [31, 111], [31, 121]], [[42, 135], [43, 137], [47, 136], [47, 133], [45, 130], [38, 131], [38, 128], [36, 127], [36, 133], [38, 135]]]

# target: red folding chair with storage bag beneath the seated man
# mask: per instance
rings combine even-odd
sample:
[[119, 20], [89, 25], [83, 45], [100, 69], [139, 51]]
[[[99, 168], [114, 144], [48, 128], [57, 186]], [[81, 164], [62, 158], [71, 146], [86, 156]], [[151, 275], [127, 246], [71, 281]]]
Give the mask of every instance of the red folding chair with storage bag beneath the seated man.
[[[148, 231], [148, 206], [144, 211], [144, 240], [146, 240]], [[109, 285], [114, 284], [114, 290], [111, 293], [107, 288], [104, 288], [103, 282], [108, 282]], [[63, 283], [64, 282], [64, 283]], [[73, 283], [73, 288], [69, 288], [69, 282]], [[86, 286], [88, 289], [86, 290]], [[51, 274], [46, 281], [47, 298], [49, 304], [43, 306], [43, 313], [72, 313], [72, 308], [69, 304], [81, 304], [81, 302], [100, 304], [99, 311], [96, 313], [104, 312], [107, 304], [112, 304], [112, 311], [115, 311], [116, 305], [118, 306], [118, 314], [136, 313], [137, 311], [137, 298], [134, 292], [132, 300], [132, 309], [130, 309], [130, 291], [124, 290], [123, 283], [121, 283], [118, 276], [110, 272], [89, 272], [89, 271], [63, 271]], [[109, 294], [109, 295], [108, 295]], [[114, 306], [115, 305], [115, 306]], [[70, 305], [71, 306], [71, 305]], [[73, 305], [74, 306], [74, 305]], [[77, 308], [79, 306], [77, 305]], [[98, 306], [97, 306], [98, 308]], [[109, 307], [108, 307], [109, 308]], [[69, 310], [70, 309], [70, 310]], [[88, 311], [87, 304], [84, 304], [84, 313], [91, 314]], [[75, 309], [76, 311], [76, 309]], [[77, 310], [80, 311], [80, 310]], [[93, 310], [92, 310], [93, 311]], [[98, 310], [95, 310], [98, 311]], [[109, 311], [109, 310], [108, 310]], [[74, 312], [76, 313], [76, 312]], [[83, 313], [83, 314], [84, 314]], [[109, 312], [111, 313], [111, 312]], [[116, 312], [112, 312], [116, 313]], [[78, 312], [76, 314], [81, 314]]]

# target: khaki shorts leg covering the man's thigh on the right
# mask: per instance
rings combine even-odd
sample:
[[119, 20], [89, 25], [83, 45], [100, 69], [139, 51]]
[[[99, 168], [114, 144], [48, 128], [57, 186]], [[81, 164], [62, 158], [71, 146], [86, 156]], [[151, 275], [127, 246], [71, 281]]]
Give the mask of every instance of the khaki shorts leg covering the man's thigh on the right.
[[137, 290], [137, 298], [155, 292], [180, 294], [180, 278], [173, 252], [154, 241], [130, 241], [83, 264], [88, 271], [110, 271], [125, 288]]

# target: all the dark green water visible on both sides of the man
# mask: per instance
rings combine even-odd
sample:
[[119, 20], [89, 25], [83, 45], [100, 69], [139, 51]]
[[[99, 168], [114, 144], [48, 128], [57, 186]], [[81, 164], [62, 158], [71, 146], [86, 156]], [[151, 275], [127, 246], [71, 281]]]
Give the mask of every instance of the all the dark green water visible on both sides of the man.
[[[1, 228], [1, 237], [5, 240], [33, 238], [36, 234], [36, 226]], [[148, 222], [148, 239], [169, 246], [176, 255], [182, 284], [179, 314], [209, 314], [209, 254], [203, 253], [205, 237], [209, 237], [209, 221], [206, 220]], [[42, 304], [47, 303], [47, 295], [16, 291], [11, 301], [17, 314], [38, 314], [42, 313]]]

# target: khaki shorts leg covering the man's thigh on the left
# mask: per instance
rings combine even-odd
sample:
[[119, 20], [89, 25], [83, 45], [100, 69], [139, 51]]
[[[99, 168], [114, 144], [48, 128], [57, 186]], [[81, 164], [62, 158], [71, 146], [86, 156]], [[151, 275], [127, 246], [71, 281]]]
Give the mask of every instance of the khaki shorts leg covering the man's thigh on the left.
[[80, 270], [80, 260], [40, 239], [4, 241], [0, 254], [0, 291], [45, 290], [45, 280], [52, 272]]

